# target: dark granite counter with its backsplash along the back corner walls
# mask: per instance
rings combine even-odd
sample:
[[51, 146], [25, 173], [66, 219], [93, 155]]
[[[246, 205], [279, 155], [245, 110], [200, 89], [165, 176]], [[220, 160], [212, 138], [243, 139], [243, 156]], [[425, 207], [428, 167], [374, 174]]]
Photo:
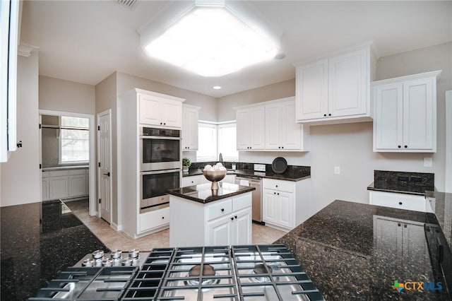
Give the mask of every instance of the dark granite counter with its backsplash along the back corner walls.
[[[195, 163], [193, 164], [189, 172], [183, 172], [182, 177], [190, 177], [193, 175], [202, 175], [204, 166], [210, 163]], [[215, 163], [214, 163], [215, 164]], [[225, 167], [230, 169], [230, 163], [225, 162]], [[262, 177], [268, 179], [283, 179], [285, 181], [300, 181], [302, 179], [307, 179], [311, 177], [311, 167], [310, 166], [298, 166], [298, 165], [287, 165], [287, 170], [282, 174], [277, 174], [273, 172], [270, 164], [266, 164], [266, 172], [255, 172], [254, 163], [237, 163], [236, 170], [228, 170], [229, 175], [237, 176], [254, 176]]]

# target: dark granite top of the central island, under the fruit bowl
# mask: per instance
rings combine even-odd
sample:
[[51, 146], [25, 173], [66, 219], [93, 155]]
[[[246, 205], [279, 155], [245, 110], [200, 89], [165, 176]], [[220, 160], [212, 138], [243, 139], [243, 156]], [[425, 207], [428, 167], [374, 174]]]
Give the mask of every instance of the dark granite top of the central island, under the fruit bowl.
[[212, 201], [218, 201], [220, 199], [226, 199], [231, 196], [237, 196], [238, 194], [244, 194], [245, 192], [256, 190], [254, 187], [240, 186], [225, 182], [218, 183], [219, 189], [217, 191], [210, 189], [210, 187], [211, 183], [209, 182], [194, 186], [170, 189], [167, 191], [167, 194], [179, 196], [198, 203], [210, 203]]

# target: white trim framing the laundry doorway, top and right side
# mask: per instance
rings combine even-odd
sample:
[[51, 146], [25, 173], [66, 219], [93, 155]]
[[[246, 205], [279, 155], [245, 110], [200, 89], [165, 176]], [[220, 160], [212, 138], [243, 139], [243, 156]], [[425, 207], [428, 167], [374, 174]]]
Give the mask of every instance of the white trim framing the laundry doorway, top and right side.
[[[53, 110], [39, 110], [40, 115], [52, 115], [52, 116], [70, 116], [70, 117], [83, 117], [90, 119], [90, 161], [89, 161], [89, 197], [90, 197], [90, 216], [96, 215], [96, 158], [95, 158], [95, 125], [94, 114], [82, 114], [73, 112], [53, 111]], [[41, 159], [42, 160], [42, 159]]]

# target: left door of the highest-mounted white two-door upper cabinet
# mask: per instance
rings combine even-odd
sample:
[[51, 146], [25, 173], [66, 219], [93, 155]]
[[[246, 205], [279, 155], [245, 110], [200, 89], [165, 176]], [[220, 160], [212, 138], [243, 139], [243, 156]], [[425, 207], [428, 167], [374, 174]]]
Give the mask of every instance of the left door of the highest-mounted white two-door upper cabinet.
[[297, 68], [297, 120], [323, 118], [328, 113], [328, 60]]

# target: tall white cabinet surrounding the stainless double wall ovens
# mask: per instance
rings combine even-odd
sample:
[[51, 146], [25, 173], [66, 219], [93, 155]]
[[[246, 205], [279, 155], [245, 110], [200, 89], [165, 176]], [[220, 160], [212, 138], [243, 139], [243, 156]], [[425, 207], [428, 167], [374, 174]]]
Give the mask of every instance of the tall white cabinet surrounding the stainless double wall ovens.
[[119, 227], [138, 238], [169, 227], [169, 210], [140, 212], [139, 127], [181, 129], [182, 102], [174, 96], [132, 89], [118, 101]]

